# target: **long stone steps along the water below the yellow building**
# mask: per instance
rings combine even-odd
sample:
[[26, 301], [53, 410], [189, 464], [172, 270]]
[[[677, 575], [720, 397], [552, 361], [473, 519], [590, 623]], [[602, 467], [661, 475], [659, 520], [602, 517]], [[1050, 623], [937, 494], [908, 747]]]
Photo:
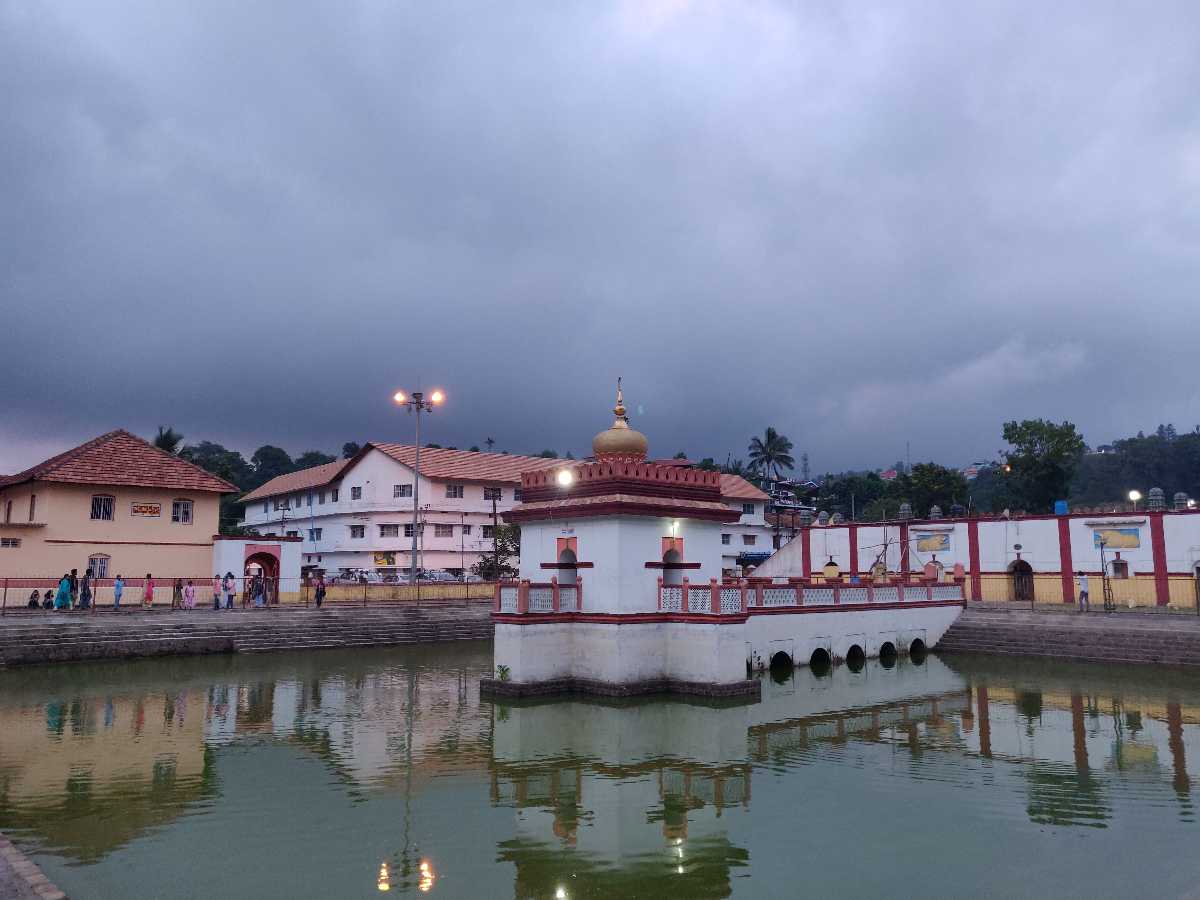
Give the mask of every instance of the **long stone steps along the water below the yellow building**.
[[41, 613], [0, 618], [0, 667], [138, 656], [491, 640], [490, 600], [370, 608]]

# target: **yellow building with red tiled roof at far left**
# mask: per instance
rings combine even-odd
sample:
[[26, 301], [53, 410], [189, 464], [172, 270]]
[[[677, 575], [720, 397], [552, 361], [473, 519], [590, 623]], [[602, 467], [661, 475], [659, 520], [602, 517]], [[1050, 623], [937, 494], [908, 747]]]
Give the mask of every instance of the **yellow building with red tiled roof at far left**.
[[221, 494], [236, 490], [127, 431], [102, 434], [0, 475], [0, 578], [56, 580], [89, 566], [131, 587], [146, 572], [211, 577]]

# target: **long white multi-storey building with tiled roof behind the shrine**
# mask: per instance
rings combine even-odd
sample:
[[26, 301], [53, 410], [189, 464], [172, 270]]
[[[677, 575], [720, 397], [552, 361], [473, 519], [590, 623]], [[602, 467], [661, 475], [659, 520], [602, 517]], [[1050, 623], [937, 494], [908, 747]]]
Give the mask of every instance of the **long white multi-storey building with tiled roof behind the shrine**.
[[[244, 498], [242, 524], [260, 534], [300, 538], [306, 569], [404, 576], [413, 551], [415, 494], [420, 505], [418, 566], [458, 576], [492, 552], [492, 529], [520, 502], [522, 474], [571, 464], [422, 448], [421, 481], [415, 485], [415, 456], [407, 444], [371, 443], [350, 460], [271, 479]], [[721, 493], [727, 505], [742, 511], [742, 518], [721, 536], [722, 551], [727, 551], [722, 568], [732, 575], [739, 553], [770, 548], [763, 520], [767, 497], [736, 475], [721, 475]]]

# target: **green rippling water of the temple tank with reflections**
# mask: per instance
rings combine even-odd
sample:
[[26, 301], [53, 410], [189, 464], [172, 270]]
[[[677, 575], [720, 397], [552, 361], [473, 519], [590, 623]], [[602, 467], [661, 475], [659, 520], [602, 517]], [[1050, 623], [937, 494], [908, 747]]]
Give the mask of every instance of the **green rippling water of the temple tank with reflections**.
[[91, 898], [1195, 895], [1200, 677], [929, 656], [493, 707], [491, 644], [0, 672], [0, 829]]

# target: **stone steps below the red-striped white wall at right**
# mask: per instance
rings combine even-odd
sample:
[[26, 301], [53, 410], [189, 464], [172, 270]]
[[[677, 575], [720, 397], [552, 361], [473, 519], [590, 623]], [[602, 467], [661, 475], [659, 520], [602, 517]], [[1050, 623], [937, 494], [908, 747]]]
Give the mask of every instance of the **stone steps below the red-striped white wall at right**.
[[1200, 617], [968, 607], [936, 649], [1200, 666]]

